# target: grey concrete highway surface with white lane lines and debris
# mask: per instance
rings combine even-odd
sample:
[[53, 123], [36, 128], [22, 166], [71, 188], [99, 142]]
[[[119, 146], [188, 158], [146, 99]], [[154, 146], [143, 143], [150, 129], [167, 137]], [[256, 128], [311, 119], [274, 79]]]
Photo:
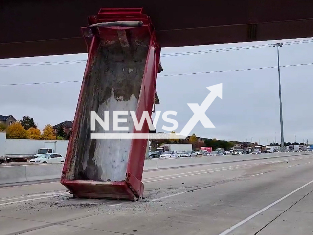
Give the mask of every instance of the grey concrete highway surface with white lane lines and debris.
[[307, 235], [313, 155], [146, 171], [141, 202], [0, 188], [0, 235]]

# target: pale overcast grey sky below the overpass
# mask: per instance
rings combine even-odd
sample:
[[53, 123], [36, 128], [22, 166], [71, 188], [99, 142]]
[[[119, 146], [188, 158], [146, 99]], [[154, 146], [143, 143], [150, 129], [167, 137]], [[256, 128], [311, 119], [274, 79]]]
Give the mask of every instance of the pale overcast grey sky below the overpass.
[[[176, 111], [179, 132], [193, 115], [187, 103], [201, 105], [210, 93], [206, 87], [223, 83], [223, 99], [217, 97], [206, 111], [215, 128], [198, 122], [192, 133], [227, 141], [280, 142], [277, 48], [271, 46], [276, 42], [286, 43], [279, 48], [285, 142], [296, 138], [313, 143], [313, 64], [287, 66], [313, 63], [313, 39], [162, 48], [156, 111]], [[229, 49], [234, 47], [240, 48]], [[73, 120], [81, 82], [72, 81], [82, 80], [86, 59], [87, 54], [74, 54], [0, 60], [0, 114], [30, 116], [40, 129]], [[274, 68], [247, 70], [264, 67]], [[21, 83], [31, 84], [12, 85]], [[162, 131], [163, 124], [160, 118], [156, 130]]]

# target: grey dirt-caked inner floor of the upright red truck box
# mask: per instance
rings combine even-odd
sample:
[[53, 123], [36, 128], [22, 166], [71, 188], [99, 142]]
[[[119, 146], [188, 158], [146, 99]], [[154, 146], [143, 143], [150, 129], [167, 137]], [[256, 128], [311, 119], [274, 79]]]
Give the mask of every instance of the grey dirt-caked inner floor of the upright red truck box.
[[[69, 179], [125, 179], [131, 139], [90, 139], [90, 112], [95, 111], [104, 120], [104, 111], [136, 110], [149, 39], [149, 35], [142, 40], [130, 37], [128, 51], [119, 41], [101, 42], [99, 45], [84, 84], [82, 112], [76, 127], [78, 136], [73, 143], [75, 158], [70, 164]], [[109, 120], [112, 118], [109, 116]], [[130, 114], [127, 119], [127, 125], [123, 126], [132, 129], [134, 123]], [[101, 132], [103, 128], [96, 125], [95, 133]]]

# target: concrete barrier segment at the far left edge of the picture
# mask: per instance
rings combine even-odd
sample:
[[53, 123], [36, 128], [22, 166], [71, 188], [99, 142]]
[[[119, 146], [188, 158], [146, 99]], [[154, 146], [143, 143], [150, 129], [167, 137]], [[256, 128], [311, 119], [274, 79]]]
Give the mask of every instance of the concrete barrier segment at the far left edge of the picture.
[[26, 166], [4, 166], [0, 168], [0, 184], [26, 181]]

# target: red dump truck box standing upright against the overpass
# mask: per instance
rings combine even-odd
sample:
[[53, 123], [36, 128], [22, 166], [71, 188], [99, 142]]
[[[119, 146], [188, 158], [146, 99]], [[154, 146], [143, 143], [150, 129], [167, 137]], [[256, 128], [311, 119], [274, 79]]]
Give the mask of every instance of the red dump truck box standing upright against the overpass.
[[[135, 111], [138, 121], [148, 111], [151, 118], [158, 102], [156, 77], [162, 71], [154, 27], [141, 8], [102, 8], [82, 32], [88, 60], [61, 183], [80, 198], [140, 200], [148, 134], [144, 139], [102, 138], [149, 133], [146, 121], [141, 131], [134, 130], [130, 112], [119, 117], [126, 122], [118, 123], [128, 130], [113, 130], [113, 111]], [[93, 111], [109, 122], [109, 130], [95, 121], [91, 131]], [[93, 139], [91, 133], [101, 137]]]

